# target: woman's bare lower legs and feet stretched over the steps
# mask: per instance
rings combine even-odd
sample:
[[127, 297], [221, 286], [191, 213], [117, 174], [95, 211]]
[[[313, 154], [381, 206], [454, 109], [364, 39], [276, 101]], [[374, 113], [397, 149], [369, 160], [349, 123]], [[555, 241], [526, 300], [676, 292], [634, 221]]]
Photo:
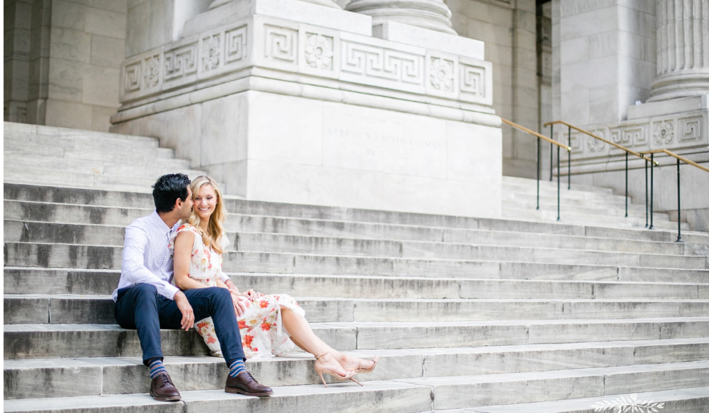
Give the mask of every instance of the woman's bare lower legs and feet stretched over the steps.
[[[321, 358], [323, 360], [323, 367], [330, 368], [337, 372], [337, 374], [344, 375], [345, 370], [357, 370], [357, 368], [369, 368], [373, 366], [374, 363], [372, 361], [362, 360], [360, 362], [359, 358], [347, 356], [328, 346], [328, 344], [325, 344], [325, 341], [321, 340], [320, 337], [313, 333], [306, 319], [298, 317], [298, 315], [295, 315], [288, 308], [281, 307], [281, 317], [286, 331], [291, 334], [291, 340], [296, 346], [308, 351], [308, 353], [313, 354], [313, 356], [320, 356], [325, 353], [330, 353], [330, 356], [333, 356], [333, 359], [330, 359], [328, 356]], [[337, 363], [338, 361], [339, 363]]]

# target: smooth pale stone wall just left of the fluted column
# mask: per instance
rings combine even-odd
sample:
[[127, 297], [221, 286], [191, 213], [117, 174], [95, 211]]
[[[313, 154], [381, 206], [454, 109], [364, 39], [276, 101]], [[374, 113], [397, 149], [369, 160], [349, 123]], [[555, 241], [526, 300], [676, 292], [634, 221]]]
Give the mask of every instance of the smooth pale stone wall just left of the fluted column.
[[[617, 122], [655, 77], [655, 2], [554, 0], [554, 117]], [[558, 58], [557, 58], [558, 56]]]

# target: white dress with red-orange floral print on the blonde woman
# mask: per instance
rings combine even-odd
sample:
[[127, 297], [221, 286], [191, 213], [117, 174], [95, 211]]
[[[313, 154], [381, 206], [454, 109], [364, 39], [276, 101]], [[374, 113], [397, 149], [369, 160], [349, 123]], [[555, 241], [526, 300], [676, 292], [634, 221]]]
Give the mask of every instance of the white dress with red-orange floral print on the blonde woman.
[[[204, 285], [216, 287], [216, 280], [224, 275], [222, 256], [211, 246], [204, 244], [202, 236], [195, 227], [187, 223], [180, 225], [177, 231], [170, 234], [168, 247], [174, 251], [174, 240], [177, 234], [184, 231], [194, 234], [189, 278]], [[223, 249], [229, 245], [226, 235], [222, 236], [219, 244]], [[246, 305], [247, 310], [237, 319], [246, 358], [271, 358], [293, 350], [295, 344], [291, 341], [290, 334], [283, 325], [281, 306], [304, 318], [305, 311], [296, 300], [286, 294], [264, 295], [256, 293], [253, 298], [246, 301]], [[221, 357], [221, 348], [214, 331], [212, 318], [201, 319], [194, 324], [194, 327], [209, 347], [212, 356]]]

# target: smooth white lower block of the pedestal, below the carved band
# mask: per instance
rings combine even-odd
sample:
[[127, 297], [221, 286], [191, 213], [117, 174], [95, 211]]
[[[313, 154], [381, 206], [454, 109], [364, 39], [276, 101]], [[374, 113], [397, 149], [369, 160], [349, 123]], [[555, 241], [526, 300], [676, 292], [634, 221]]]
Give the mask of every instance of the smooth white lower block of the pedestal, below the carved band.
[[246, 91], [113, 126], [249, 200], [499, 217], [501, 129]]

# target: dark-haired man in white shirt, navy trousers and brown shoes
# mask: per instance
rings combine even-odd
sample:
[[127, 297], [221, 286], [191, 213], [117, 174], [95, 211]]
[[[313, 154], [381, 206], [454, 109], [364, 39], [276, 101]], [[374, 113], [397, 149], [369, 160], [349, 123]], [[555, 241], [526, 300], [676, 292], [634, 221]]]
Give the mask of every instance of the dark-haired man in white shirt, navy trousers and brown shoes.
[[[183, 174], [160, 176], [152, 190], [155, 211], [125, 228], [123, 266], [116, 301], [116, 321], [137, 329], [143, 364], [150, 368], [150, 395], [155, 400], [177, 401], [180, 395], [162, 365], [160, 329], [189, 330], [195, 319], [212, 317], [217, 338], [229, 366], [225, 391], [250, 396], [269, 396], [271, 388], [260, 385], [244, 366], [244, 351], [230, 290], [197, 288], [180, 291], [170, 284], [172, 254], [167, 247], [172, 227], [192, 212], [189, 178]], [[237, 291], [231, 280], [224, 279]], [[240, 310], [240, 309], [239, 309]]]

